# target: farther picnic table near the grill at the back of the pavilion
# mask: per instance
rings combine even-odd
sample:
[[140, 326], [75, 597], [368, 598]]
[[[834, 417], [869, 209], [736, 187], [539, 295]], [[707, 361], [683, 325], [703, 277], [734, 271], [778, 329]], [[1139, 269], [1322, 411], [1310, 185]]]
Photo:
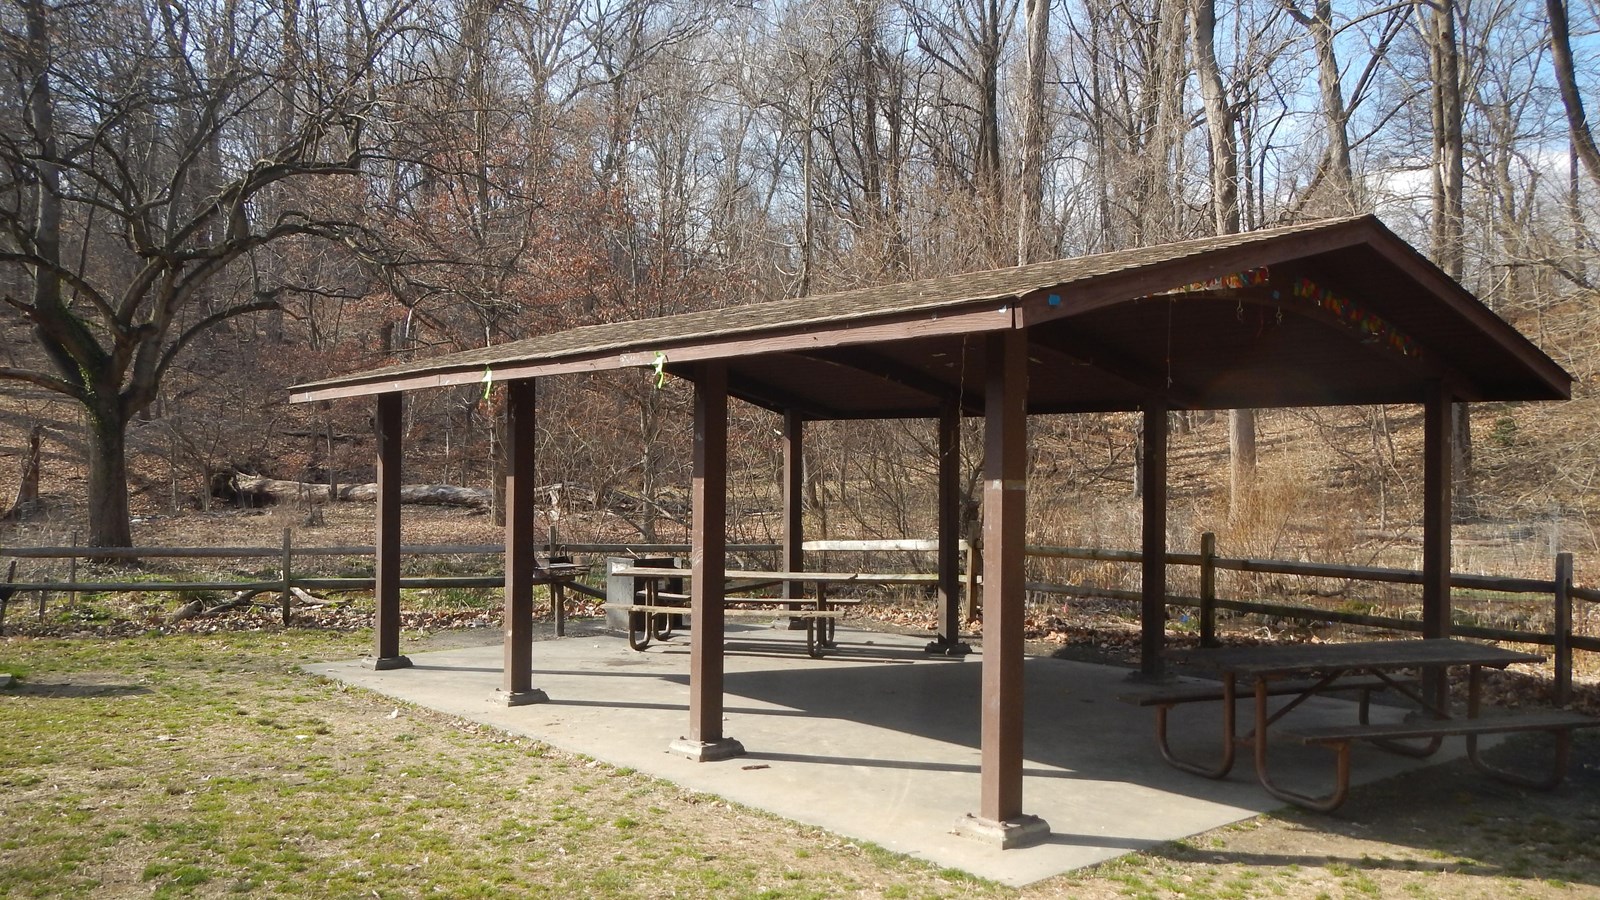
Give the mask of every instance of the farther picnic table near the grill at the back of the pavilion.
[[[634, 650], [650, 647], [651, 639], [666, 641], [672, 634], [678, 617], [690, 615], [688, 596], [661, 591], [661, 585], [669, 580], [691, 578], [686, 569], [666, 569], [656, 565], [619, 565], [611, 569], [611, 575], [637, 578], [643, 583], [643, 602], [638, 594], [632, 605], [627, 605], [629, 628], [627, 645]], [[822, 650], [837, 647], [834, 641], [837, 620], [843, 615], [843, 607], [859, 604], [858, 599], [830, 597], [829, 588], [837, 585], [931, 585], [938, 575], [878, 575], [861, 572], [762, 572], [762, 570], [730, 570], [725, 573], [730, 593], [757, 591], [776, 585], [811, 583], [816, 586], [810, 599], [805, 597], [747, 597], [725, 596], [723, 604], [739, 604], [741, 607], [763, 609], [725, 609], [723, 615], [734, 618], [771, 618], [781, 617], [803, 620], [806, 626], [806, 655], [821, 658]]]

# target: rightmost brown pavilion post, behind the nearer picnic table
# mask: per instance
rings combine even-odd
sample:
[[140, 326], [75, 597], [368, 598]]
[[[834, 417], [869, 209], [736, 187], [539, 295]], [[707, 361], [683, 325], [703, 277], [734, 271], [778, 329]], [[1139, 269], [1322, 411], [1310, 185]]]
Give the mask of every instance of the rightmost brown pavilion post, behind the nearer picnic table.
[[[1438, 383], [1422, 404], [1422, 637], [1450, 637], [1450, 519], [1454, 431], [1454, 397]], [[1429, 700], [1445, 703], [1450, 679], [1445, 669], [1426, 671]]]

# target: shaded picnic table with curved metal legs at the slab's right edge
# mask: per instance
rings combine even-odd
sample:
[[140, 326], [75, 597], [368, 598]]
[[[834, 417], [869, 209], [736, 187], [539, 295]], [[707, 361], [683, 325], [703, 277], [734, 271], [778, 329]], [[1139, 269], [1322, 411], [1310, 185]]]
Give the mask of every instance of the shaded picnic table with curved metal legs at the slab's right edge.
[[[1350, 783], [1350, 745], [1363, 740], [1392, 753], [1429, 756], [1445, 737], [1462, 735], [1472, 765], [1494, 778], [1520, 786], [1554, 788], [1566, 775], [1573, 729], [1600, 725], [1600, 719], [1562, 709], [1494, 711], [1483, 709], [1483, 669], [1504, 669], [1512, 663], [1539, 663], [1544, 657], [1454, 639], [1366, 641], [1352, 644], [1288, 644], [1264, 647], [1224, 647], [1171, 650], [1173, 661], [1213, 671], [1221, 685], [1176, 685], [1131, 693], [1123, 700], [1157, 708], [1157, 741], [1162, 756], [1187, 772], [1221, 778], [1234, 765], [1235, 748], [1250, 745], [1254, 753], [1256, 778], [1272, 796], [1307, 809], [1330, 812], [1344, 802]], [[1421, 690], [1414, 673], [1446, 668], [1469, 669], [1464, 716], [1450, 708], [1446, 690], [1429, 695]], [[1235, 700], [1240, 682], [1248, 684], [1245, 697], [1254, 698], [1254, 727], [1240, 735], [1235, 727]], [[1357, 722], [1328, 727], [1274, 727], [1304, 701], [1322, 693], [1357, 690], [1362, 695]], [[1400, 722], [1370, 721], [1370, 695], [1392, 690], [1406, 698], [1414, 713]], [[1288, 703], [1272, 709], [1270, 698], [1288, 697]], [[1197, 764], [1173, 754], [1166, 740], [1166, 713], [1179, 703], [1219, 701], [1222, 717], [1222, 753], [1216, 764]], [[1491, 733], [1549, 732], [1555, 738], [1555, 759], [1547, 777], [1530, 778], [1488, 765], [1478, 754], [1477, 738]], [[1334, 788], [1315, 796], [1277, 785], [1267, 767], [1272, 738], [1302, 745], [1323, 745], [1336, 753]], [[1424, 741], [1406, 743], [1406, 741]]]

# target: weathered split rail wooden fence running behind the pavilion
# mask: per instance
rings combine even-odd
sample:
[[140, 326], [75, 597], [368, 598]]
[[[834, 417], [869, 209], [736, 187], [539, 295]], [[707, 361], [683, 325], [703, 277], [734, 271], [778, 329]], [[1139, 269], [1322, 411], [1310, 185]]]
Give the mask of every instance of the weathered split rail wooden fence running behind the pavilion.
[[[674, 556], [686, 554], [688, 544], [670, 543], [558, 543], [552, 532], [550, 543], [539, 548], [552, 556]], [[888, 541], [806, 541], [805, 549], [813, 552], [854, 551], [854, 552], [928, 552], [936, 548], [930, 540], [888, 540]], [[730, 554], [770, 554], [778, 544], [770, 543], [730, 543]], [[968, 602], [974, 596], [978, 583], [974, 551], [963, 541], [966, 552], [966, 588]], [[371, 557], [373, 546], [294, 546], [293, 528], [283, 530], [283, 543], [275, 548], [0, 548], [0, 557], [11, 559], [64, 559], [69, 562], [66, 581], [11, 581], [0, 586], [0, 626], [5, 623], [6, 605], [18, 593], [35, 591], [38, 594], [38, 615], [43, 620], [46, 597], [51, 593], [67, 594], [75, 601], [78, 593], [131, 593], [131, 591], [240, 591], [240, 593], [278, 593], [283, 605], [285, 623], [290, 621], [293, 591], [370, 591], [374, 580], [371, 577], [320, 577], [298, 573], [294, 560], [307, 557]], [[406, 544], [400, 548], [402, 556], [501, 556], [499, 544]], [[1138, 565], [1142, 560], [1139, 551], [1101, 549], [1101, 548], [1056, 548], [1029, 546], [1027, 556], [1037, 559], [1070, 559], [1082, 562], [1115, 562]], [[77, 564], [83, 559], [93, 560], [141, 560], [141, 559], [275, 559], [278, 572], [272, 578], [232, 580], [232, 581], [78, 581]], [[1198, 610], [1202, 644], [1216, 644], [1218, 610], [1229, 610], [1246, 615], [1264, 615], [1294, 621], [1339, 623], [1363, 628], [1379, 628], [1390, 631], [1419, 633], [1422, 623], [1418, 618], [1371, 615], [1349, 610], [1328, 610], [1293, 604], [1277, 604], [1262, 601], [1242, 601], [1216, 596], [1218, 572], [1245, 572], [1261, 575], [1291, 575], [1302, 578], [1334, 578], [1347, 581], [1371, 581], [1389, 585], [1421, 585], [1422, 573], [1411, 569], [1382, 569], [1365, 565], [1338, 565], [1323, 562], [1293, 562], [1277, 559], [1227, 557], [1216, 552], [1216, 536], [1205, 533], [1200, 538], [1200, 552], [1168, 552], [1168, 565], [1186, 565], [1198, 570], [1198, 596], [1168, 594], [1166, 604]], [[13, 565], [14, 569], [14, 565]], [[408, 575], [400, 578], [402, 588], [498, 588], [504, 585], [504, 575]], [[1451, 588], [1469, 591], [1486, 591], [1494, 594], [1542, 596], [1552, 601], [1552, 628], [1549, 633], [1526, 631], [1514, 628], [1491, 628], [1482, 625], [1454, 623], [1451, 634], [1461, 637], [1478, 637], [1488, 641], [1509, 641], [1517, 644], [1534, 644], [1550, 647], [1555, 666], [1554, 698], [1566, 703], [1571, 697], [1573, 684], [1573, 652], [1584, 650], [1600, 653], [1600, 636], [1576, 634], [1573, 629], [1573, 604], [1584, 601], [1600, 604], [1600, 589], [1582, 588], [1573, 583], [1573, 554], [1555, 554], [1552, 578], [1507, 578], [1494, 575], [1451, 573]], [[586, 585], [570, 585], [579, 593], [605, 599], [605, 593]], [[1034, 594], [1067, 596], [1067, 597], [1109, 597], [1122, 601], [1139, 601], [1139, 591], [1126, 588], [1091, 588], [1078, 585], [1058, 585], [1050, 581], [1029, 581], [1027, 589]], [[968, 607], [973, 609], [971, 605]]]

